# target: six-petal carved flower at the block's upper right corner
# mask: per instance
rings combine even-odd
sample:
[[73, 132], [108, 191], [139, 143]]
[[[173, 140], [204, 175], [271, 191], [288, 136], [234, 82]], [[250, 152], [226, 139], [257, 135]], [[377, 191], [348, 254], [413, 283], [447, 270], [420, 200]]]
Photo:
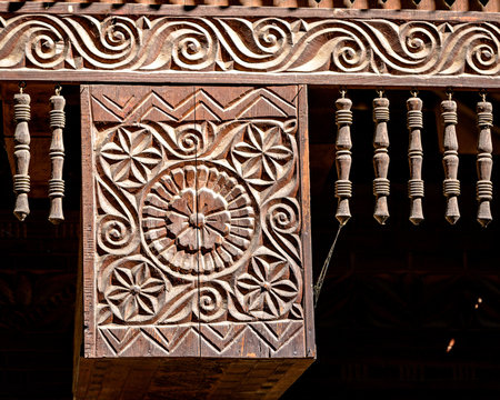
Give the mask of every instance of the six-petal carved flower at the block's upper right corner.
[[243, 141], [233, 149], [241, 162], [243, 178], [254, 184], [270, 184], [279, 179], [292, 158], [292, 151], [283, 142], [279, 127], [264, 130], [249, 123]]

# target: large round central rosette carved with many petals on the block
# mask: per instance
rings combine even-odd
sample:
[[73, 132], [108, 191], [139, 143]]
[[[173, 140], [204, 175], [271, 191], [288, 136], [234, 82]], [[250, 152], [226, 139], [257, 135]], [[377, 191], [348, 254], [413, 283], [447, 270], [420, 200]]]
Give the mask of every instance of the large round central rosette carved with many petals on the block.
[[254, 236], [254, 208], [238, 180], [207, 166], [160, 174], [142, 207], [143, 238], [170, 271], [194, 278], [227, 271]]

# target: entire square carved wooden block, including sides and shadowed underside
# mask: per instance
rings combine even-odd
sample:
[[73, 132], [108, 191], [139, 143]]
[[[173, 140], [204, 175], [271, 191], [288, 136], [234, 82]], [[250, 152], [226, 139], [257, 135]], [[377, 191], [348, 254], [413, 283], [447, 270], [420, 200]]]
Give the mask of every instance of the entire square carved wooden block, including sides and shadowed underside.
[[82, 87], [77, 399], [277, 398], [312, 362], [306, 100]]

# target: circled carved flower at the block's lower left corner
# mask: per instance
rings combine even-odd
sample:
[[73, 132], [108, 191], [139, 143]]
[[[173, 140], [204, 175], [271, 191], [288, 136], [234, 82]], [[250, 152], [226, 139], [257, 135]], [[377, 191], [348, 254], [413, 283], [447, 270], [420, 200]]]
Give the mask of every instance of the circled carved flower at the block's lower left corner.
[[103, 286], [112, 313], [126, 322], [153, 319], [168, 291], [161, 271], [141, 259], [118, 262], [106, 276]]

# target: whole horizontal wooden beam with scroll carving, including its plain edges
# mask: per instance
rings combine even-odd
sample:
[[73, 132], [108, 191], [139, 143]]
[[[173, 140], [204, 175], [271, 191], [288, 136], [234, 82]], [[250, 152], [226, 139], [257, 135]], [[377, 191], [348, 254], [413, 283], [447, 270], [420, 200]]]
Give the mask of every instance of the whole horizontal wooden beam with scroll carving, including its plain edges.
[[98, 6], [0, 11], [3, 79], [500, 87], [497, 13]]

